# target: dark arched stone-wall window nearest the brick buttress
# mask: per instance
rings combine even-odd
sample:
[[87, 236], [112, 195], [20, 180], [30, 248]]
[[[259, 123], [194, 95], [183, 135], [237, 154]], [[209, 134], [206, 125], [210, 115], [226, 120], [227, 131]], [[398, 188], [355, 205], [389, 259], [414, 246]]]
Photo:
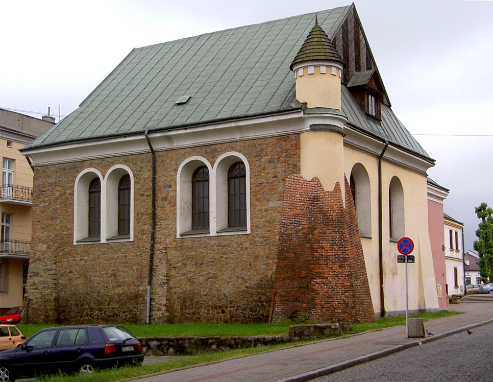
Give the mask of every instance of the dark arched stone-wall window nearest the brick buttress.
[[228, 227], [246, 227], [246, 169], [243, 162], [228, 170]]

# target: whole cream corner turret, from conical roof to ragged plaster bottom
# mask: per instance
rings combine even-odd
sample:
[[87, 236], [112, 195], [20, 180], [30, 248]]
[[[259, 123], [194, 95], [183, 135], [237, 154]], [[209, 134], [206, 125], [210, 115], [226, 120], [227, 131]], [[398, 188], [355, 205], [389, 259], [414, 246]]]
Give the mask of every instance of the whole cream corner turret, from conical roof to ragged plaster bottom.
[[[308, 131], [300, 134], [301, 175], [317, 177], [325, 190], [339, 183], [344, 195], [344, 125], [341, 113], [341, 76], [344, 62], [335, 45], [318, 25], [308, 34], [291, 63], [296, 98], [306, 102]], [[311, 110], [310, 110], [311, 109]], [[344, 203], [344, 198], [342, 198]]]

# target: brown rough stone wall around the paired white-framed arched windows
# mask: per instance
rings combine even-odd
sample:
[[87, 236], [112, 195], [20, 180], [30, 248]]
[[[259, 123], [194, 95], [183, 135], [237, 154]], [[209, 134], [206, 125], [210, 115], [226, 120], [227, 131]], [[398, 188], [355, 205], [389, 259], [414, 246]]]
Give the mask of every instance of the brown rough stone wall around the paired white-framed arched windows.
[[[226, 152], [250, 163], [251, 234], [176, 238], [180, 163]], [[286, 176], [300, 172], [298, 134], [156, 153], [152, 322], [266, 321]], [[115, 164], [134, 175], [134, 241], [73, 245], [77, 175]], [[27, 322], [144, 322], [151, 225], [151, 154], [35, 168]]]

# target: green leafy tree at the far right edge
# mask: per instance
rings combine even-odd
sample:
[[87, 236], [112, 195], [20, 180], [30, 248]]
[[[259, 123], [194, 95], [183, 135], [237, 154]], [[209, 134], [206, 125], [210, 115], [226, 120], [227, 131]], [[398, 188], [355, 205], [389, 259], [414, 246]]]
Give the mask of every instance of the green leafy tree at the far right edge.
[[481, 219], [476, 231], [478, 240], [474, 242], [474, 249], [480, 257], [479, 274], [483, 281], [489, 279], [493, 282], [493, 208], [483, 202], [475, 207], [475, 211], [478, 219]]

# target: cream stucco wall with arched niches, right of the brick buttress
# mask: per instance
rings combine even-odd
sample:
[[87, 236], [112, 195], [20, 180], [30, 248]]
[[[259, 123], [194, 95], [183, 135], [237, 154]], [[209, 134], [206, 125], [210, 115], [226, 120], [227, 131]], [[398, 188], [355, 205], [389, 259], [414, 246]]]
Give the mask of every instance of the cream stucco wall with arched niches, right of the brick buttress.
[[[375, 312], [380, 312], [379, 224], [378, 224], [378, 157], [375, 154], [344, 147], [344, 172], [349, 179], [356, 163], [368, 173], [371, 192], [371, 237], [362, 237], [366, 272]], [[405, 264], [398, 264], [397, 242], [389, 238], [389, 185], [398, 177], [404, 196], [404, 235], [414, 242], [415, 263], [408, 265], [408, 303], [410, 310], [437, 309], [435, 275], [428, 233], [426, 176], [402, 165], [382, 161], [382, 231], [384, 304], [388, 314], [405, 311]]]

